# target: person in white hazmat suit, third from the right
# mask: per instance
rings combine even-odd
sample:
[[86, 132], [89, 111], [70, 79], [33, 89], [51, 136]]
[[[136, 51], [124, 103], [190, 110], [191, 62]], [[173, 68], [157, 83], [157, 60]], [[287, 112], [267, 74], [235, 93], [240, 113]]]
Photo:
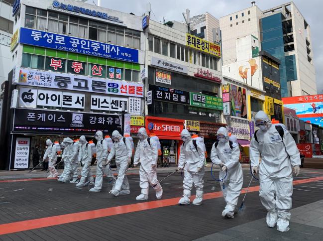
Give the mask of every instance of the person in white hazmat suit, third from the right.
[[203, 201], [203, 186], [204, 186], [204, 145], [200, 141], [196, 141], [191, 137], [187, 129], [181, 132], [181, 139], [184, 141], [181, 146], [178, 171], [184, 168], [183, 180], [183, 197], [178, 204], [190, 204], [191, 190], [194, 183], [196, 188], [196, 198], [193, 205], [201, 205]]

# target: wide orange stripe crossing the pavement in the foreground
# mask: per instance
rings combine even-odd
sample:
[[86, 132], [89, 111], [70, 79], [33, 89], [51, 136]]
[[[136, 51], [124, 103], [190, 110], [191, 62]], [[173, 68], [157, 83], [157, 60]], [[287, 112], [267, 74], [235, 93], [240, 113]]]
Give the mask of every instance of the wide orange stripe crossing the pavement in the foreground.
[[[323, 180], [323, 177], [315, 177], [309, 179], [302, 179], [294, 181], [294, 185], [315, 182]], [[259, 191], [259, 186], [250, 187], [248, 192], [257, 192]], [[242, 189], [241, 193], [245, 193], [246, 188]], [[215, 199], [222, 197], [222, 192], [213, 192], [204, 194], [204, 199]], [[192, 199], [195, 196], [192, 196]], [[19, 221], [14, 223], [2, 224], [0, 225], [0, 235], [11, 234], [21, 231], [27, 231], [32, 229], [45, 228], [55, 225], [68, 224], [73, 222], [80, 222], [90, 219], [104, 218], [119, 214], [133, 213], [138, 211], [144, 211], [155, 208], [162, 208], [177, 205], [179, 198], [170, 198], [165, 200], [157, 200], [151, 202], [143, 202], [136, 204], [123, 205], [112, 208], [97, 209], [73, 214], [64, 214], [59, 216], [52, 216], [47, 218], [32, 219], [26, 221]]]

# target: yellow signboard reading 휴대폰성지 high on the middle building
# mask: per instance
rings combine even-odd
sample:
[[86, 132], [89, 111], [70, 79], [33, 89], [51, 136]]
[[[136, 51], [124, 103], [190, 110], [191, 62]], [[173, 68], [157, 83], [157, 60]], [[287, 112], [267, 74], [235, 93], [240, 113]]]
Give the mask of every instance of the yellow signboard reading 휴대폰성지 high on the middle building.
[[205, 53], [215, 55], [216, 57], [221, 57], [221, 47], [219, 44], [212, 43], [189, 33], [186, 34], [186, 45]]

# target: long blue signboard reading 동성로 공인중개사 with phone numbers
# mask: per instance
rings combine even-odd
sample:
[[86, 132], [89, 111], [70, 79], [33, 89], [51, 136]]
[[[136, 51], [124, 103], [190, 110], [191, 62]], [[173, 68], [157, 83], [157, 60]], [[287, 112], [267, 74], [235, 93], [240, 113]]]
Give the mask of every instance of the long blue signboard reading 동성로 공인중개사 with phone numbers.
[[137, 49], [29, 28], [20, 28], [19, 43], [138, 63]]

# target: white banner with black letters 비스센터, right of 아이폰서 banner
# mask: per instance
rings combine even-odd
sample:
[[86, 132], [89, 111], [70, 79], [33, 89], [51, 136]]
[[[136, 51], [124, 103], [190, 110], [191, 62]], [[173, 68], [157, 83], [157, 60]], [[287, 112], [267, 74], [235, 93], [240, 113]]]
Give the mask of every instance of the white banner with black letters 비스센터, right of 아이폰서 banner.
[[128, 112], [128, 98], [91, 96], [91, 110]]

